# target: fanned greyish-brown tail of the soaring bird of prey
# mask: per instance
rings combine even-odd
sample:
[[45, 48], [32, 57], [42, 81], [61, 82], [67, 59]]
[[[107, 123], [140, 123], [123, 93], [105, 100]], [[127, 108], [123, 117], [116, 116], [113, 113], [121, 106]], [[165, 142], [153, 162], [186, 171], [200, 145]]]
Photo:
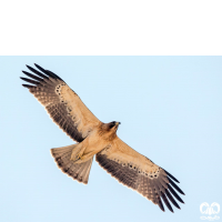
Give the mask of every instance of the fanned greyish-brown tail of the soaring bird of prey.
[[87, 184], [93, 158], [83, 163], [75, 163], [71, 160], [72, 150], [75, 145], [77, 144], [51, 149], [51, 154], [63, 173]]

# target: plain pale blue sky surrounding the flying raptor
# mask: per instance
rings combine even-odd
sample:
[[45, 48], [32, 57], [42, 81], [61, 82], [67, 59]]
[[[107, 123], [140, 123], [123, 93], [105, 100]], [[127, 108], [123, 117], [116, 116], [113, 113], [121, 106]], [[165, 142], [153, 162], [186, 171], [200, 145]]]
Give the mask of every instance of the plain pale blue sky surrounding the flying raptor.
[[[62, 173], [50, 149], [74, 142], [21, 87], [33, 63], [120, 121], [118, 135], [180, 181], [181, 210], [162, 212], [95, 161], [88, 185]], [[0, 221], [201, 221], [202, 202], [222, 206], [222, 57], [0, 57]]]

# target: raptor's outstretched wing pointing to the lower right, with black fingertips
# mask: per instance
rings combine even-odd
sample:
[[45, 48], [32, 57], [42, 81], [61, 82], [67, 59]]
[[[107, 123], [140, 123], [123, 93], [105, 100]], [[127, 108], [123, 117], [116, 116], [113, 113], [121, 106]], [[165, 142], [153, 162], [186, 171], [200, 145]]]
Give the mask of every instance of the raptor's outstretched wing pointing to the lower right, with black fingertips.
[[179, 181], [119, 138], [113, 141], [112, 145], [97, 154], [97, 161], [120, 183], [138, 191], [154, 204], [158, 204], [162, 211], [164, 211], [162, 201], [171, 212], [173, 212], [173, 209], [170, 202], [180, 209], [174, 198], [184, 203], [174, 191], [175, 189], [179, 193], [184, 194], [173, 182], [173, 180], [178, 183]]

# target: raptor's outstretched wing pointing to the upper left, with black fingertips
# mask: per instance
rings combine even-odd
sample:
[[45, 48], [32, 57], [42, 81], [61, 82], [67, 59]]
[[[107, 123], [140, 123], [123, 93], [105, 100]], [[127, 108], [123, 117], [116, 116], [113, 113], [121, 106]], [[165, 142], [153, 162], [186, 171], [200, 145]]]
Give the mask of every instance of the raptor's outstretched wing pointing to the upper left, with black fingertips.
[[22, 71], [31, 79], [21, 78], [31, 84], [22, 84], [47, 109], [51, 119], [74, 141], [81, 142], [98, 124], [93, 113], [79, 95], [57, 74], [34, 64], [40, 71], [29, 67], [34, 74]]

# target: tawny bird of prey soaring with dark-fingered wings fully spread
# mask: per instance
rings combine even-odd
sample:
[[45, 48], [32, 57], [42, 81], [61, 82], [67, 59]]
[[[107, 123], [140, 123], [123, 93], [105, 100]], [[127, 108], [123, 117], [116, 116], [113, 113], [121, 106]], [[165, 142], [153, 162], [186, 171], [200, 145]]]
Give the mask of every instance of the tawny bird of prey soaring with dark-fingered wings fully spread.
[[87, 184], [95, 155], [97, 162], [108, 173], [158, 204], [162, 211], [162, 201], [171, 212], [171, 203], [180, 209], [175, 199], [184, 203], [178, 192], [184, 193], [174, 183], [179, 181], [124, 143], [117, 135], [120, 122], [101, 122], [60, 77], [34, 65], [38, 70], [27, 65], [32, 73], [22, 71], [31, 78], [21, 78], [31, 83], [22, 85], [46, 108], [53, 122], [77, 142], [51, 149], [52, 157], [64, 173]]

